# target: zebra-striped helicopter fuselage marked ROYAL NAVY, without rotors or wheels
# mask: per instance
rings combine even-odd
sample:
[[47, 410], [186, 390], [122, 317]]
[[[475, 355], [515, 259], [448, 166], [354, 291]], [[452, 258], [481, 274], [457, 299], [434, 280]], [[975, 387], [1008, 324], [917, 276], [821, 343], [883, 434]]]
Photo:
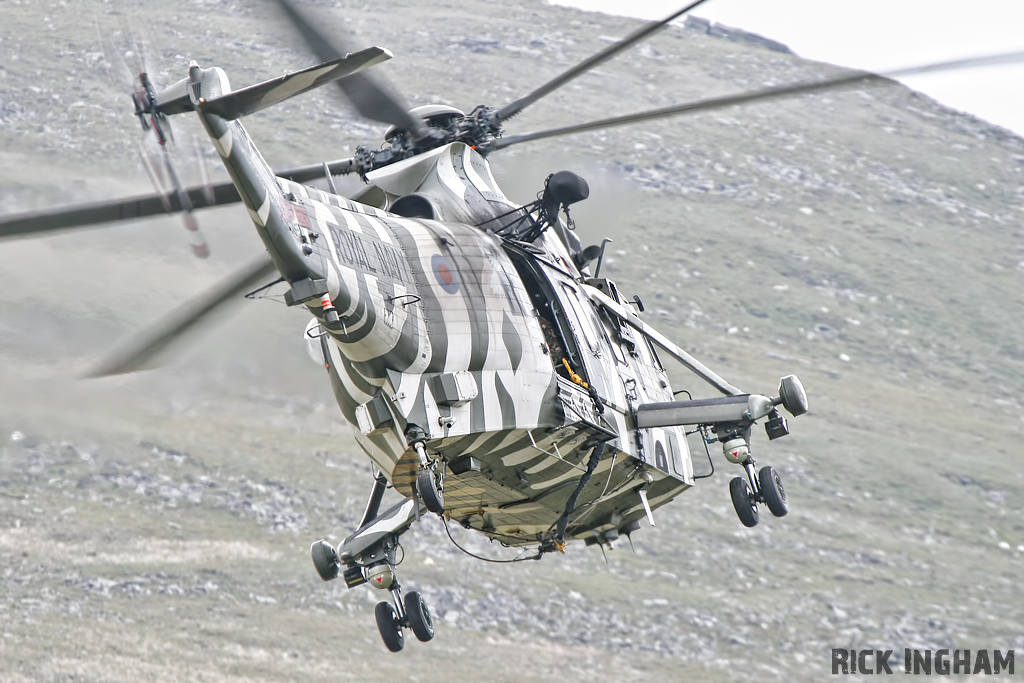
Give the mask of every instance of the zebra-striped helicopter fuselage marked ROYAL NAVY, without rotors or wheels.
[[[204, 71], [204, 98], [229, 90]], [[414, 196], [436, 219], [412, 218], [279, 178], [238, 120], [196, 111], [286, 298], [314, 317], [307, 341], [342, 415], [399, 493], [420, 466], [411, 427], [446, 464], [445, 515], [509, 545], [545, 540], [599, 444], [565, 539], [629, 532], [640, 489], [656, 508], [692, 485], [683, 430], [637, 428], [637, 405], [672, 391], [614, 285], [554, 230], [525, 244], [478, 227], [517, 207], [477, 152], [450, 143], [368, 175], [386, 206]]]

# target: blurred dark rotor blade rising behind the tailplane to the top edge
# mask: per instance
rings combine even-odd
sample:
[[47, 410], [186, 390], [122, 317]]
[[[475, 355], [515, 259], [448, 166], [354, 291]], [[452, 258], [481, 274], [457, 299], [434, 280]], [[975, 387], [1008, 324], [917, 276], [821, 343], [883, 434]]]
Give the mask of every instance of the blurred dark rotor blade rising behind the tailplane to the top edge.
[[[278, 4], [321, 61], [331, 61], [346, 53], [347, 50], [332, 43], [290, 0], [278, 0]], [[422, 136], [423, 123], [410, 116], [409, 106], [367, 74], [352, 74], [337, 84], [362, 116], [412, 131], [415, 137]]]

